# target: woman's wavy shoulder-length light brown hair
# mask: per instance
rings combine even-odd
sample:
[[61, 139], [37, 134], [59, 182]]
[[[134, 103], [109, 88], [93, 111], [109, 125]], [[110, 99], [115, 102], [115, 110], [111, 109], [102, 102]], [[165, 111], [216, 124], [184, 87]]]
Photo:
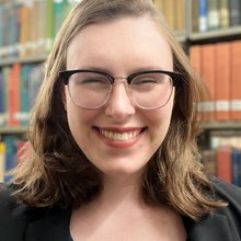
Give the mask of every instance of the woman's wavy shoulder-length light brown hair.
[[199, 128], [194, 106], [202, 100], [203, 83], [151, 0], [83, 0], [66, 19], [46, 61], [44, 82], [32, 112], [27, 151], [14, 171], [15, 196], [20, 200], [36, 207], [79, 206], [100, 192], [99, 171], [68, 127], [58, 72], [66, 69], [68, 46], [84, 26], [145, 15], [163, 31], [173, 51], [174, 70], [183, 76], [169, 131], [144, 174], [145, 199], [170, 204], [193, 219], [223, 205], [207, 194], [210, 185], [196, 146]]

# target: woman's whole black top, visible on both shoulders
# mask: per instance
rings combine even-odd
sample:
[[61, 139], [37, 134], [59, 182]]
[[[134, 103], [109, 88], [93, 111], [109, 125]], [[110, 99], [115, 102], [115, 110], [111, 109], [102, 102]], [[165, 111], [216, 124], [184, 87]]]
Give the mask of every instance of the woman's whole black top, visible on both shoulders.
[[[194, 222], [183, 217], [188, 241], [241, 241], [241, 188], [214, 179], [216, 195], [229, 203]], [[0, 241], [72, 241], [71, 209], [30, 208], [0, 185]]]

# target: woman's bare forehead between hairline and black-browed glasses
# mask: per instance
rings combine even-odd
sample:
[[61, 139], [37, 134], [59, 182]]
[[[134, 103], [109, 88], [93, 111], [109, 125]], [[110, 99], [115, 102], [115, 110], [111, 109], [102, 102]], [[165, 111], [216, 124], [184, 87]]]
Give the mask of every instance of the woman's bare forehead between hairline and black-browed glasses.
[[[114, 64], [172, 68], [172, 51], [161, 27], [148, 16], [122, 18], [81, 30], [67, 50], [67, 69]], [[140, 66], [141, 67], [141, 66]]]

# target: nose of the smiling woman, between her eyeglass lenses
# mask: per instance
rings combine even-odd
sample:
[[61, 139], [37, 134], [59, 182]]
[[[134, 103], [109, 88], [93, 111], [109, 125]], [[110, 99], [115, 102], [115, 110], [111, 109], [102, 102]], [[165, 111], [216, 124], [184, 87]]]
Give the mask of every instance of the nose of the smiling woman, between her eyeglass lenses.
[[134, 115], [136, 108], [129, 97], [129, 90], [126, 80], [116, 80], [105, 107], [105, 114], [117, 122], [124, 122]]

